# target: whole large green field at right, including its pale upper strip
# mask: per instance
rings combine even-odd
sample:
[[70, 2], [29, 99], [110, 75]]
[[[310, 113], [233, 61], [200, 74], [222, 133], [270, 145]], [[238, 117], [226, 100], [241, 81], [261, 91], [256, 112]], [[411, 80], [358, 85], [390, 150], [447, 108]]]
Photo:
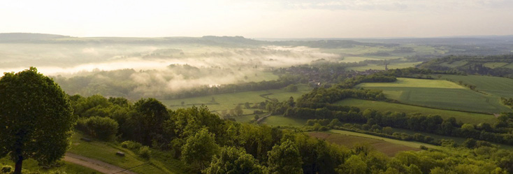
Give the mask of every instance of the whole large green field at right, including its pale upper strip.
[[387, 98], [415, 106], [479, 113], [511, 111], [497, 96], [475, 92], [447, 80], [398, 78], [397, 82], [368, 82], [356, 86], [359, 87], [382, 89]]

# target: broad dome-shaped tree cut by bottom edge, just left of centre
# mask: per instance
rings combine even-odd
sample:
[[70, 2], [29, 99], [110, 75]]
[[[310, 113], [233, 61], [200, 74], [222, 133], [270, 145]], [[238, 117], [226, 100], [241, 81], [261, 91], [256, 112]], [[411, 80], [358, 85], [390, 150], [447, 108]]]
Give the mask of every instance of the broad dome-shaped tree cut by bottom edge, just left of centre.
[[224, 147], [221, 153], [212, 158], [205, 174], [263, 174], [263, 167], [257, 159], [245, 150], [236, 147]]

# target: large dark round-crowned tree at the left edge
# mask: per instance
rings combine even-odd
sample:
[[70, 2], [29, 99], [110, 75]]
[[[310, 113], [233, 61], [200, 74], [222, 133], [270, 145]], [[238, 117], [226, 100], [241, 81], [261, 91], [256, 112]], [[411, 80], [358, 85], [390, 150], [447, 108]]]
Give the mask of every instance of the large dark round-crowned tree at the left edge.
[[0, 157], [10, 154], [14, 173], [21, 173], [24, 159], [61, 159], [76, 120], [61, 87], [36, 68], [0, 79]]

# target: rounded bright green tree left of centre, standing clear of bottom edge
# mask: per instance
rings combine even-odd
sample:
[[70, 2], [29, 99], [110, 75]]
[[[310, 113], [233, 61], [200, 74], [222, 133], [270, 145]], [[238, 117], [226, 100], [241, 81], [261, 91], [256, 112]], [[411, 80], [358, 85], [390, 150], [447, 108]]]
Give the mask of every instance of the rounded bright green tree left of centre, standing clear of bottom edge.
[[218, 149], [219, 145], [215, 143], [214, 134], [203, 128], [196, 135], [187, 138], [182, 147], [182, 160], [203, 169], [212, 156], [217, 154]]

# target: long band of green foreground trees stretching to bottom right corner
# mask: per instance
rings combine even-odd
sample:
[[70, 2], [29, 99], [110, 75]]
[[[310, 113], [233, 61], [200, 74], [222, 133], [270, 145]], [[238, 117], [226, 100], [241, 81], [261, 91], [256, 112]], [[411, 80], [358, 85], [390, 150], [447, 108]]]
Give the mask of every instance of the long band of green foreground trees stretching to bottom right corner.
[[[89, 122], [79, 124], [80, 130], [96, 138], [124, 141], [122, 147], [144, 158], [151, 158], [152, 149], [170, 152], [170, 158], [184, 161], [195, 173], [506, 173], [513, 164], [512, 152], [493, 147], [479, 147], [479, 153], [467, 149], [400, 152], [389, 158], [369, 145], [347, 149], [299, 130], [220, 119], [204, 106], [168, 110], [155, 99], [131, 103], [99, 95], [70, 98], [75, 115]], [[95, 125], [102, 122], [117, 126]], [[106, 127], [115, 131], [99, 130]]]

